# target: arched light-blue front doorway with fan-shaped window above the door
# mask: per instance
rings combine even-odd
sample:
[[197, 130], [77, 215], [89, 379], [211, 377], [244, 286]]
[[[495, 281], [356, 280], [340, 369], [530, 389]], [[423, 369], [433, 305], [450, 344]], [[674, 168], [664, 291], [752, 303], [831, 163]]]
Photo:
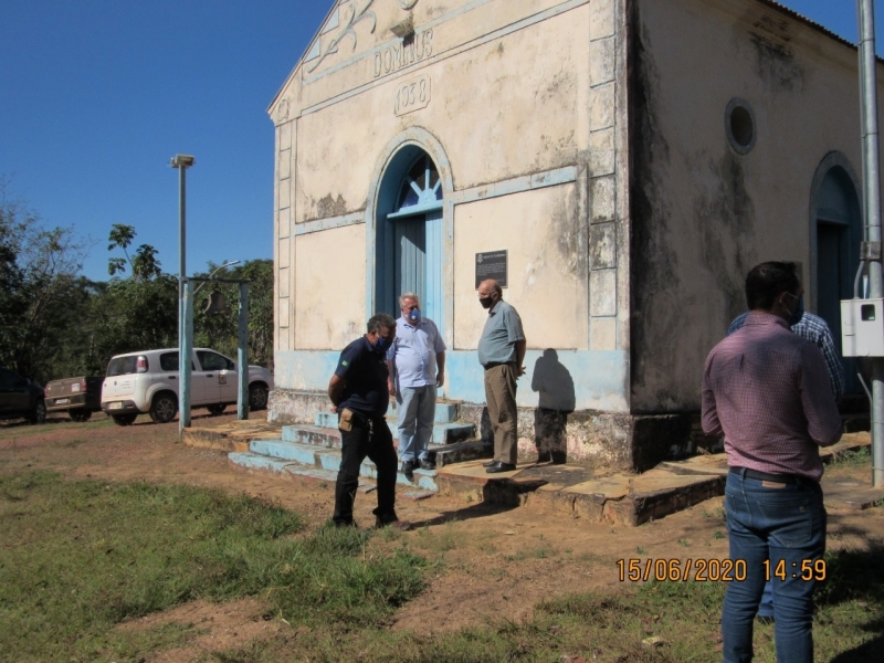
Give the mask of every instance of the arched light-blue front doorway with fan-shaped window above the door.
[[424, 315], [442, 329], [443, 188], [430, 156], [399, 150], [383, 175], [376, 215], [375, 302], [399, 315], [399, 295], [415, 292]]

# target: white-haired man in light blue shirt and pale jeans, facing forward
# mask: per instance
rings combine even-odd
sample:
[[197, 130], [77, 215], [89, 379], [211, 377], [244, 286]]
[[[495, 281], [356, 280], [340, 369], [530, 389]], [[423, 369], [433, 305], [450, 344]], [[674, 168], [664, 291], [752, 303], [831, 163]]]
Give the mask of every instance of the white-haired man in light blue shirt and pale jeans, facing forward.
[[427, 446], [433, 433], [435, 390], [445, 382], [445, 343], [435, 323], [421, 315], [415, 293], [402, 293], [399, 309], [402, 316], [396, 320], [396, 338], [387, 352], [387, 387], [396, 397], [402, 472], [411, 478], [415, 462], [421, 470], [435, 469]]

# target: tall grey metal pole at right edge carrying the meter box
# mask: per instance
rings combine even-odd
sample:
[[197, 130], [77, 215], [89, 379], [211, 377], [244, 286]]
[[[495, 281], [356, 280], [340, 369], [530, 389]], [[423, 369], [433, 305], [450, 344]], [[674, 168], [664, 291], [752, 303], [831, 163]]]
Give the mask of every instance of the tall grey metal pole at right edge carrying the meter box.
[[[877, 136], [877, 71], [875, 60], [875, 10], [872, 0], [859, 0], [860, 76], [863, 98], [863, 178], [865, 239], [874, 249], [869, 261], [870, 296], [884, 295], [881, 265], [881, 173]], [[872, 360], [872, 485], [884, 486], [884, 358]]]

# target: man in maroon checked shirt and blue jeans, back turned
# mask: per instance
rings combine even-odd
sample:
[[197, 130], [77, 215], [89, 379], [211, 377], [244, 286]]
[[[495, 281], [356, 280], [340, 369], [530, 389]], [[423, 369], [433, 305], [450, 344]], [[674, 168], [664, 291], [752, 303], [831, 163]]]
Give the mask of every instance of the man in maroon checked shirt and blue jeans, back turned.
[[819, 448], [838, 442], [842, 423], [822, 352], [790, 329], [802, 295], [793, 263], [755, 266], [746, 277], [750, 314], [713, 348], [703, 375], [703, 430], [724, 433], [730, 466], [730, 559], [747, 570], [725, 594], [725, 663], [753, 659], [753, 622], [767, 578], [775, 582], [777, 661], [813, 661], [818, 576], [807, 569], [825, 551]]

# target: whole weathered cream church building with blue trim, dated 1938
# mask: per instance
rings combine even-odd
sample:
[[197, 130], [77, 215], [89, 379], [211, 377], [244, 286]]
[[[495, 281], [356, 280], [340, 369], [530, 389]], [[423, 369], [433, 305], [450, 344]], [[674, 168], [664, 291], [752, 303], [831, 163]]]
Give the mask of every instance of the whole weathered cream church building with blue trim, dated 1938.
[[526, 460], [694, 451], [706, 355], [758, 262], [800, 263], [840, 338], [862, 240], [851, 43], [772, 0], [327, 1], [269, 108], [272, 420], [327, 410], [340, 350], [415, 291], [449, 348], [440, 398], [478, 424], [488, 276], [527, 337]]

